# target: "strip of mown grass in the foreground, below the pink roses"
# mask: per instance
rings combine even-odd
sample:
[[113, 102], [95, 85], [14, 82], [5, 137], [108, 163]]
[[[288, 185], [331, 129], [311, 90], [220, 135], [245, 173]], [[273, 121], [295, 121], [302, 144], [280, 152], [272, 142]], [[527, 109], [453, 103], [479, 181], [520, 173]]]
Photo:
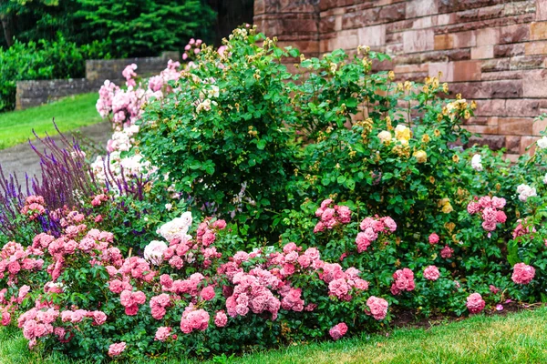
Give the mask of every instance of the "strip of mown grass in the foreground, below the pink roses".
[[[295, 345], [285, 349], [249, 353], [227, 363], [543, 363], [547, 362], [547, 308], [507, 316], [475, 316], [431, 329], [395, 329], [390, 335]], [[67, 357], [26, 349], [26, 340], [15, 329], [0, 329], [0, 362], [71, 363]], [[137, 361], [149, 363], [150, 360]], [[191, 363], [184, 359], [151, 361]], [[216, 362], [224, 362], [217, 360]], [[76, 362], [75, 362], [76, 363]], [[77, 362], [78, 364], [83, 361]]]

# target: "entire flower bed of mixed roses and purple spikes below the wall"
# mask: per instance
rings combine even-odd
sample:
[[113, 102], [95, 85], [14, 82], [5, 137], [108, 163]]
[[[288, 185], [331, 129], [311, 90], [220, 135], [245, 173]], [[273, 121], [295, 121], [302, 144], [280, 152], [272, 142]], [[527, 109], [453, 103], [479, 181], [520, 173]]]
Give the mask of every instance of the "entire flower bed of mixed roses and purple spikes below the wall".
[[2, 321], [31, 349], [208, 358], [547, 299], [547, 136], [514, 166], [464, 149], [475, 104], [365, 46], [243, 27], [184, 59], [105, 82], [105, 155], [50, 146], [34, 195], [3, 178]]

